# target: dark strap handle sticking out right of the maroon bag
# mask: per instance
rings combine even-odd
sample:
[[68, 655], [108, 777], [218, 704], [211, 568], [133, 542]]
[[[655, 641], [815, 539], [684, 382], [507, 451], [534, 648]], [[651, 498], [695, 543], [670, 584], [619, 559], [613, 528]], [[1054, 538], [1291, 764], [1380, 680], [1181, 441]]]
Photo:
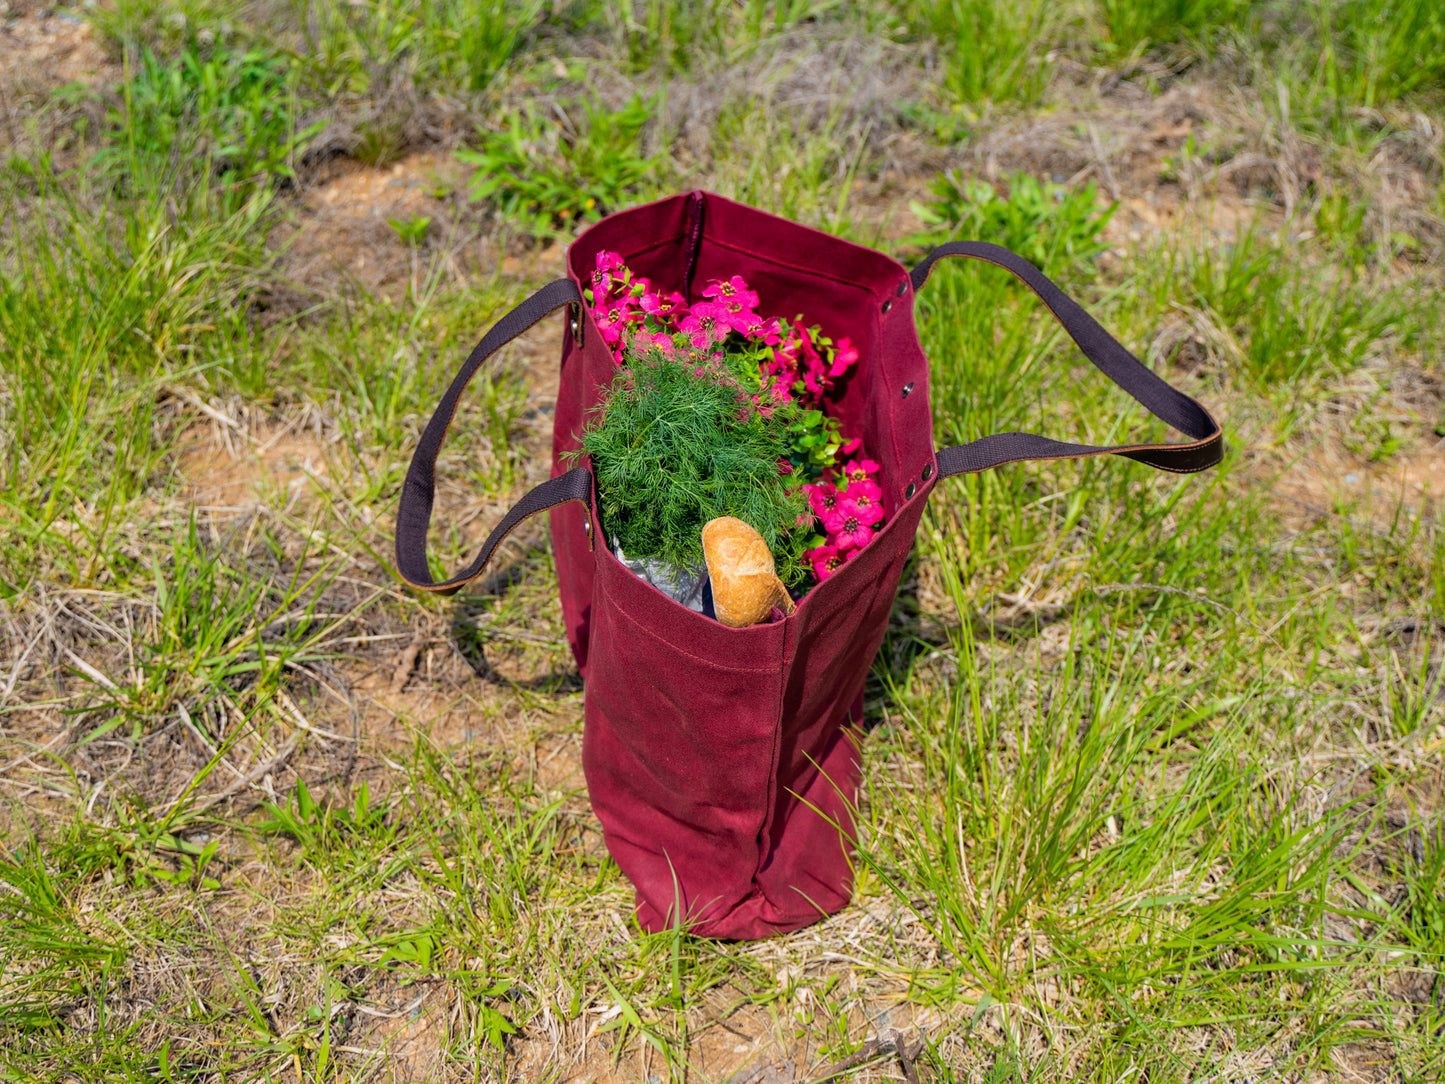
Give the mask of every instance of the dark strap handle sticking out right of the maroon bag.
[[1088, 455], [1123, 455], [1162, 471], [1192, 474], [1214, 467], [1224, 455], [1220, 423], [1198, 400], [1170, 386], [1110, 335], [1078, 302], [1061, 291], [1043, 272], [1003, 246], [985, 241], [949, 241], [933, 249], [909, 275], [916, 293], [933, 264], [949, 256], [997, 264], [1012, 272], [1039, 295], [1064, 330], [1084, 351], [1084, 357], [1110, 380], [1131, 395], [1149, 413], [1194, 436], [1189, 444], [1120, 444], [1108, 448], [1092, 444], [1066, 444], [1026, 432], [1001, 432], [970, 444], [938, 449], [938, 474], [977, 474], [1004, 463], [1020, 460], [1078, 460]]

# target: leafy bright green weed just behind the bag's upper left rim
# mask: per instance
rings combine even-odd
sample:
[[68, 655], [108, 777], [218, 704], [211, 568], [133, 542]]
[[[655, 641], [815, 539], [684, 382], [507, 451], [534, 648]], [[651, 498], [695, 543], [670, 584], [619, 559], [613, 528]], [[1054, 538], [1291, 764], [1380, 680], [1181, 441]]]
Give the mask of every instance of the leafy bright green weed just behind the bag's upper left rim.
[[663, 171], [665, 152], [643, 152], [643, 130], [660, 108], [660, 95], [633, 94], [616, 111], [587, 98], [561, 108], [559, 123], [529, 103], [500, 132], [483, 130], [475, 150], [457, 153], [477, 168], [470, 195], [536, 237], [601, 217]]

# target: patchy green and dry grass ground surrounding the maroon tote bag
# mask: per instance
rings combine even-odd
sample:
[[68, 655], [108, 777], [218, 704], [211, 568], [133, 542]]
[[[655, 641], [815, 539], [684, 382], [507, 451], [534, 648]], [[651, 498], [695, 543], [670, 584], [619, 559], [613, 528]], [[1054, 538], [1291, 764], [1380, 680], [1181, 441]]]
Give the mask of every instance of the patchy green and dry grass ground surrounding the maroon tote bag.
[[[1433, 7], [84, 17], [0, 126], [0, 1077], [1441, 1077]], [[480, 332], [686, 186], [1009, 244], [1230, 444], [938, 489], [855, 900], [759, 944], [636, 928], [545, 530], [390, 571]], [[918, 327], [941, 444], [1166, 435], [998, 269]], [[473, 383], [439, 567], [540, 477], [558, 331]]]

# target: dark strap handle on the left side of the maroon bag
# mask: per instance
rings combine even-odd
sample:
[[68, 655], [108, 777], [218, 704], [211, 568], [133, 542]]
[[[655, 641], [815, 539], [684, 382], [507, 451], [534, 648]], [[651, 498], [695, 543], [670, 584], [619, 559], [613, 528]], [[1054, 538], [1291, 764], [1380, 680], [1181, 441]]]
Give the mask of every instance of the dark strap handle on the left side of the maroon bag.
[[[406, 481], [402, 483], [402, 506], [396, 513], [396, 569], [412, 587], [420, 591], [451, 594], [462, 584], [481, 575], [497, 546], [522, 520], [569, 500], [579, 500], [584, 506], [591, 504], [592, 476], [585, 467], [574, 467], [566, 474], [548, 478], [512, 506], [512, 510], [491, 530], [481, 552], [467, 568], [451, 580], [441, 582], [432, 580], [432, 571], [426, 564], [426, 530], [432, 522], [432, 503], [436, 494], [436, 457], [441, 454], [447, 431], [457, 415], [461, 393], [467, 390], [467, 384], [481, 369], [481, 364], [503, 345], [564, 305], [581, 306], [581, 304], [582, 296], [571, 279], [549, 282], [483, 335], [481, 343], [473, 348], [465, 364], [436, 405], [432, 419], [422, 431], [416, 452], [412, 455], [412, 465], [406, 470]], [[578, 312], [575, 328], [581, 328], [581, 312]]]

